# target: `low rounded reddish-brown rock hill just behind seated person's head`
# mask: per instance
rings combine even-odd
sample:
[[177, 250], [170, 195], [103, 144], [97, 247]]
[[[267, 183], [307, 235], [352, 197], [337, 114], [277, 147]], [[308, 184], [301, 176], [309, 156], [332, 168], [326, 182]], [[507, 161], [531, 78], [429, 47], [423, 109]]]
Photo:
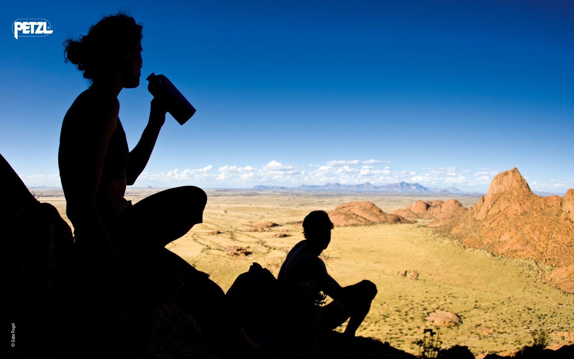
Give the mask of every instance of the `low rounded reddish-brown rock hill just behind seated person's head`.
[[396, 214], [383, 212], [373, 202], [349, 202], [328, 211], [335, 226], [371, 226], [379, 223], [414, 223]]

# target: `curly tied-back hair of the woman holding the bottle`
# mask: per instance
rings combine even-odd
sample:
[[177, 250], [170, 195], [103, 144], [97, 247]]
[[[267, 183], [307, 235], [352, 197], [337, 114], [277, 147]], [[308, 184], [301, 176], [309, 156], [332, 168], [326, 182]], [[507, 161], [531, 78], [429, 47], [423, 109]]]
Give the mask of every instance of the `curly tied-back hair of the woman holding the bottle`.
[[84, 72], [84, 78], [94, 80], [109, 71], [115, 71], [121, 64], [126, 51], [134, 51], [142, 39], [142, 24], [136, 24], [133, 17], [119, 13], [106, 16], [91, 25], [87, 35], [79, 40], [69, 38], [64, 46], [64, 62], [76, 65]]

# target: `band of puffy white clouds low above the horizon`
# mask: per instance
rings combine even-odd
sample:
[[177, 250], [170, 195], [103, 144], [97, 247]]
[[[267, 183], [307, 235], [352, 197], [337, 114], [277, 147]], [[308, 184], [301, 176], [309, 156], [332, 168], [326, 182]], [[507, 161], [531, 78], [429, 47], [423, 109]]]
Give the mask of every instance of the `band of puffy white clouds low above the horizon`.
[[[266, 164], [255, 167], [252, 165], [224, 165], [214, 172], [211, 165], [197, 169], [177, 168], [167, 173], [143, 173], [141, 179], [149, 182], [181, 185], [183, 183], [207, 183], [207, 186], [251, 187], [254, 183], [280, 184], [282, 186], [298, 186], [299, 184], [342, 183], [358, 184], [369, 182], [375, 186], [397, 182], [416, 182], [426, 187], [445, 188], [456, 186], [460, 188], [486, 189], [492, 177], [497, 175], [493, 169], [483, 168], [472, 171], [459, 171], [456, 167], [423, 168], [425, 172], [417, 173], [411, 169], [393, 169], [384, 165], [385, 161], [328, 161], [325, 165], [302, 164], [293, 165], [271, 160]], [[471, 175], [474, 173], [474, 175]], [[29, 176], [42, 178], [41, 175]], [[26, 183], [28, 184], [28, 183]], [[146, 183], [147, 184], [147, 183]], [[574, 179], [551, 179], [548, 183], [533, 181], [532, 188], [547, 190], [563, 190], [574, 187]]]

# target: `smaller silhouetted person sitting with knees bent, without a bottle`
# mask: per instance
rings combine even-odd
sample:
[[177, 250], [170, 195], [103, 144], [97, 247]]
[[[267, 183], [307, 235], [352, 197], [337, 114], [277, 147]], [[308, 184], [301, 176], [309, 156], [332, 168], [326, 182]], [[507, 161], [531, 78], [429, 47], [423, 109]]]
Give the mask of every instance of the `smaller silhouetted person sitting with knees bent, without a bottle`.
[[[296, 330], [327, 333], [350, 318], [344, 333], [352, 336], [369, 312], [377, 287], [369, 280], [341, 287], [327, 273], [319, 254], [331, 241], [331, 229], [333, 223], [325, 211], [309, 213], [303, 221], [305, 240], [287, 254], [278, 280], [289, 288], [290, 312]], [[333, 301], [320, 306], [324, 299], [320, 292]]]

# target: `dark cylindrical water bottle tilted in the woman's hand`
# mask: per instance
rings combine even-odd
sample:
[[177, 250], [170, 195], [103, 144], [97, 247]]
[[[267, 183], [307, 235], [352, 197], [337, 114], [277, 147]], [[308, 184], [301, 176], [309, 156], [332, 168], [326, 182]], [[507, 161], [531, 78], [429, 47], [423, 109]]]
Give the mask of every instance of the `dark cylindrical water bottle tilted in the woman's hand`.
[[180, 125], [183, 125], [195, 114], [195, 108], [164, 75], [156, 75], [152, 72], [146, 80], [149, 81], [148, 91], [150, 94], [165, 103], [168, 112]]

